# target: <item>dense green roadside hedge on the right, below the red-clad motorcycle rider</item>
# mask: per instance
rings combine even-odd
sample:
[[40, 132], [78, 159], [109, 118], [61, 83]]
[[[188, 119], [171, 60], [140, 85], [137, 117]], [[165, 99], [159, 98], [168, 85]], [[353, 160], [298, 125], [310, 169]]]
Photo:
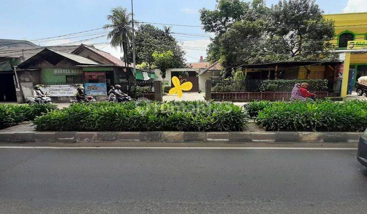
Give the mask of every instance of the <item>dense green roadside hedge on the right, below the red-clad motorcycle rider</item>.
[[258, 112], [255, 121], [269, 131], [363, 131], [367, 128], [367, 101], [261, 104], [248, 106], [255, 106], [251, 108], [252, 112]]

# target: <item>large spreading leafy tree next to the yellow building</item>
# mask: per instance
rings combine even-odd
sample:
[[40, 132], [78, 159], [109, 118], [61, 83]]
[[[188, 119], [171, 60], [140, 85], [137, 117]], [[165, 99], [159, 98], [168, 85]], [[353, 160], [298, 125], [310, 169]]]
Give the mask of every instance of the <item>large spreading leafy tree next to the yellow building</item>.
[[208, 55], [220, 57], [226, 75], [243, 64], [331, 60], [334, 25], [322, 14], [313, 0], [281, 0], [270, 8], [253, 0], [241, 20], [220, 32]]

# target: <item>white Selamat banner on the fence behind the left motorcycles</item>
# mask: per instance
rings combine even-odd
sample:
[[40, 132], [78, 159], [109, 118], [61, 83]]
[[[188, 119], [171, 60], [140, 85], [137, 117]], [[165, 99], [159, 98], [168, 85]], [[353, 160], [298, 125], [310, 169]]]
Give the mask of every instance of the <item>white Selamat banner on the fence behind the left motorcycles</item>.
[[44, 85], [40, 89], [50, 97], [73, 97], [76, 96], [76, 88], [79, 86], [83, 85]]

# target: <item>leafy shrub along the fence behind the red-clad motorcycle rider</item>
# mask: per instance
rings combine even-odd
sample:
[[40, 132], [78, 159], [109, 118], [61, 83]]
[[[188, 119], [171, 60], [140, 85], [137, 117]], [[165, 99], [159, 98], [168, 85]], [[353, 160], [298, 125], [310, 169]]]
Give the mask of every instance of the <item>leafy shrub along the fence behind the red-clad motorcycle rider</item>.
[[308, 83], [309, 91], [328, 89], [327, 79], [266, 79], [261, 81], [260, 91], [292, 91], [296, 83]]

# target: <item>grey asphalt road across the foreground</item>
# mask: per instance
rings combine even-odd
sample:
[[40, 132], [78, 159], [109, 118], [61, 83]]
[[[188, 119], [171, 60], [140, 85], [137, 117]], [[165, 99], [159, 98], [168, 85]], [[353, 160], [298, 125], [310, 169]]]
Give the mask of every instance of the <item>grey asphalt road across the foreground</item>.
[[365, 213], [355, 150], [0, 149], [1, 213]]

